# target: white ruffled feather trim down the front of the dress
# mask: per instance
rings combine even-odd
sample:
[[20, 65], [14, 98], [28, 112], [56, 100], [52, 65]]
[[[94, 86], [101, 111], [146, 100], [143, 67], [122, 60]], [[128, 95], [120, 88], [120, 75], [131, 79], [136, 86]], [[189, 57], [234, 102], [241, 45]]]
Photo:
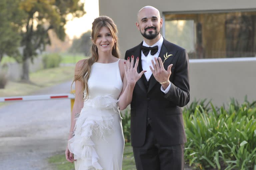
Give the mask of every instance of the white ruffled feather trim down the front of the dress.
[[[79, 170], [102, 169], [91, 136], [96, 135], [98, 139], [104, 140], [104, 135], [113, 129], [113, 114], [118, 113], [117, 102], [111, 95], [97, 96], [84, 102], [76, 120], [75, 135], [68, 141], [68, 148], [74, 153], [74, 158], [81, 159]], [[101, 112], [101, 109], [115, 112]]]

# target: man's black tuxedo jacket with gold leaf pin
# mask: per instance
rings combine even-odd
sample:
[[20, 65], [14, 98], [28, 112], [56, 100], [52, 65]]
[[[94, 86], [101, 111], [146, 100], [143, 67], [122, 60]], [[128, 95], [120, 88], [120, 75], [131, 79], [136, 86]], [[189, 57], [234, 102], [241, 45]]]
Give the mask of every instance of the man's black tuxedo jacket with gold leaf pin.
[[[125, 53], [125, 59], [134, 55], [134, 64], [139, 57], [137, 71], [142, 71], [141, 42]], [[184, 48], [164, 39], [159, 57], [164, 61], [164, 55], [172, 54], [164, 62], [164, 68], [171, 68], [171, 88], [167, 94], [161, 91], [161, 84], [153, 74], [147, 82], [145, 75], [137, 81], [131, 102], [131, 144], [140, 147], [145, 142], [147, 118], [157, 142], [161, 146], [172, 146], [187, 142], [181, 107], [189, 100], [189, 61]]]

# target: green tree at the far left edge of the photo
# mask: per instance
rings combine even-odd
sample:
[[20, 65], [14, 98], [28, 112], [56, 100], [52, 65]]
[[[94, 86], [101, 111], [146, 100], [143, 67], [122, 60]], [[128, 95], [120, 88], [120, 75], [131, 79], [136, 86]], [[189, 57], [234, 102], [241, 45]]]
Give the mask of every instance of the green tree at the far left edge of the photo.
[[0, 62], [4, 55], [20, 61], [21, 26], [25, 13], [19, 8], [19, 0], [0, 1]]

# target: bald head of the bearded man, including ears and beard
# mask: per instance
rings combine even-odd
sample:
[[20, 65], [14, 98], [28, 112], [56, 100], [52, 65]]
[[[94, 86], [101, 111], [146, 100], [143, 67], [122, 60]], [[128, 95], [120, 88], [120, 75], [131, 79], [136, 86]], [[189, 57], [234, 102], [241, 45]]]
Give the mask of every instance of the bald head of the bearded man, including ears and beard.
[[145, 8], [138, 13], [136, 26], [144, 38], [152, 40], [159, 35], [163, 20], [156, 9]]

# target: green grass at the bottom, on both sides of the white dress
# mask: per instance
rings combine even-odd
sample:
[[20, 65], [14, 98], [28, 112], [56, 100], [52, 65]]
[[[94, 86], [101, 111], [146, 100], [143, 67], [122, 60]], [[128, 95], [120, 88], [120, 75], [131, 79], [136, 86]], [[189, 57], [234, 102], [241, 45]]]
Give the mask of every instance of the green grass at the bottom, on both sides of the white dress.
[[[52, 169], [56, 170], [74, 170], [74, 164], [68, 162], [65, 158], [65, 151], [48, 159]], [[136, 170], [132, 147], [130, 143], [126, 143], [124, 147], [123, 170]]]

